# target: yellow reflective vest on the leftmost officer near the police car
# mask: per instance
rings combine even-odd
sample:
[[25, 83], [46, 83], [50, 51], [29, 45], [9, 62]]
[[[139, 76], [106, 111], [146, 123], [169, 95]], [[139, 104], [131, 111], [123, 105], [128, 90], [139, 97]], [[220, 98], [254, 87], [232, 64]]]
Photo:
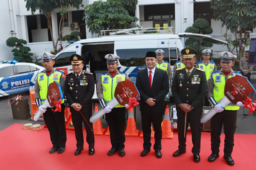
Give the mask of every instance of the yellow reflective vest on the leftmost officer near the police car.
[[[60, 78], [61, 75], [63, 74], [62, 71], [60, 70], [53, 70], [51, 74], [48, 76], [44, 71], [40, 72], [37, 76], [37, 82], [40, 88], [40, 99], [41, 99], [41, 104], [44, 103], [44, 100], [47, 100], [47, 90], [49, 84], [51, 84], [53, 81], [57, 81], [60, 83]], [[61, 104], [64, 103], [64, 99], [61, 101]]]

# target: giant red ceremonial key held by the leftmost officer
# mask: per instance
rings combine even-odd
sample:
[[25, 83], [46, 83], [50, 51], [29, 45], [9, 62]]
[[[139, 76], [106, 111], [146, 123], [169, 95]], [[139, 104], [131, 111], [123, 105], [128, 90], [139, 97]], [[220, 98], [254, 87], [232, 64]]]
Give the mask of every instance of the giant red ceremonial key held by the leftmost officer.
[[[47, 90], [47, 100], [44, 101], [43, 106], [45, 108], [48, 107], [48, 104], [52, 107], [56, 107], [56, 109], [60, 112], [61, 111], [61, 101], [63, 99], [63, 94], [60, 88], [60, 84], [57, 81], [52, 82], [48, 86]], [[55, 109], [55, 111], [57, 111]], [[34, 115], [34, 121], [37, 121], [42, 113], [38, 110]]]

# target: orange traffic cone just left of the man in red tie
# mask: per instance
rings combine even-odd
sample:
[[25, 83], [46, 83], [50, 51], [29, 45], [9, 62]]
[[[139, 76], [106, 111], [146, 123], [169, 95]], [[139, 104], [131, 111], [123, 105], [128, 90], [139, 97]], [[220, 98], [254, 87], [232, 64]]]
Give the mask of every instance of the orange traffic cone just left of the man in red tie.
[[134, 136], [134, 137], [137, 137], [139, 135], [139, 130], [136, 129], [136, 123], [135, 123], [135, 119], [133, 116], [132, 108], [129, 110], [128, 121], [127, 121], [127, 126], [126, 126], [126, 130], [124, 132], [124, 135], [125, 136]]

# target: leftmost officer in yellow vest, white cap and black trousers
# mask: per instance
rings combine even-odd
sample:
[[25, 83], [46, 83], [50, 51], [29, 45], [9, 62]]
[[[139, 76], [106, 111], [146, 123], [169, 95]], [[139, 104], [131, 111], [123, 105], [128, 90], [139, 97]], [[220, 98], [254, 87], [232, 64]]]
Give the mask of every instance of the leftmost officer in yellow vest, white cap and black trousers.
[[[60, 83], [61, 90], [64, 94], [65, 89], [65, 75], [62, 71], [55, 70], [53, 65], [55, 63], [55, 55], [51, 53], [43, 53], [41, 55], [43, 58], [43, 65], [45, 70], [41, 71], [35, 83], [35, 100], [36, 105], [41, 113], [44, 114], [44, 122], [50, 132], [50, 137], [52, 141], [52, 149], [50, 153], [58, 151], [58, 153], [63, 153], [66, 147], [66, 128], [65, 128], [65, 118], [64, 118], [64, 100], [61, 102], [61, 112], [53, 112], [51, 106], [48, 108], [44, 107], [42, 104], [46, 99], [48, 85], [53, 81]], [[55, 110], [55, 107], [53, 108]]]

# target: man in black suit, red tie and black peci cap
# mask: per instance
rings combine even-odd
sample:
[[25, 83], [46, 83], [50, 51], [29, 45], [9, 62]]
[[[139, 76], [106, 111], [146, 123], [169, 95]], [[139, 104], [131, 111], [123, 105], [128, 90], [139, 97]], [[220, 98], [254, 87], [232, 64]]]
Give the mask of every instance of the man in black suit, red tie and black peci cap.
[[143, 151], [140, 156], [150, 152], [151, 122], [155, 130], [154, 150], [156, 157], [162, 158], [161, 123], [164, 112], [164, 96], [169, 91], [168, 76], [166, 71], [156, 68], [156, 53], [149, 51], [146, 54], [147, 69], [140, 70], [137, 74], [136, 86], [140, 92], [140, 112], [143, 132]]

